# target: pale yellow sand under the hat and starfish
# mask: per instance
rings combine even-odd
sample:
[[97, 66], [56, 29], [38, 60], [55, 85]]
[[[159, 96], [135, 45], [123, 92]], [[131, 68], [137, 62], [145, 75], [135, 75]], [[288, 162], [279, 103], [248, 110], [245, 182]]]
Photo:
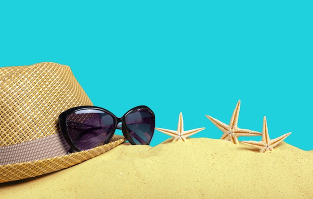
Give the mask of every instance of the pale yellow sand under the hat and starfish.
[[188, 138], [121, 144], [78, 165], [0, 183], [1, 198], [313, 198], [313, 150]]

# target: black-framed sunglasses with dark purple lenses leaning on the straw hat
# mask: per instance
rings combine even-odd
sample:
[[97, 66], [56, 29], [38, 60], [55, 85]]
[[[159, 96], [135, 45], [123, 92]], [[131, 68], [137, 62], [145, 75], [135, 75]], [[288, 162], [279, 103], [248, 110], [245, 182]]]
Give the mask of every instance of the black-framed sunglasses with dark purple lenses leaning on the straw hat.
[[131, 144], [149, 144], [155, 116], [144, 105], [131, 108], [122, 117], [97, 106], [77, 106], [62, 112], [58, 122], [71, 151], [80, 151], [108, 143], [116, 128]]

